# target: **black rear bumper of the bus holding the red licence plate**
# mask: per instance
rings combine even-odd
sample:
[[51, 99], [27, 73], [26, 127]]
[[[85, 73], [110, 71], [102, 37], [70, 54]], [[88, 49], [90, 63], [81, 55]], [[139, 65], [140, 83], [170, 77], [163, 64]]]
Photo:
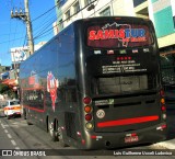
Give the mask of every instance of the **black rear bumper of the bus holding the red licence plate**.
[[142, 144], [155, 144], [165, 140], [166, 135], [166, 123], [162, 123], [139, 130], [89, 134], [83, 147], [85, 149], [113, 149]]

